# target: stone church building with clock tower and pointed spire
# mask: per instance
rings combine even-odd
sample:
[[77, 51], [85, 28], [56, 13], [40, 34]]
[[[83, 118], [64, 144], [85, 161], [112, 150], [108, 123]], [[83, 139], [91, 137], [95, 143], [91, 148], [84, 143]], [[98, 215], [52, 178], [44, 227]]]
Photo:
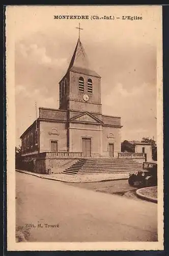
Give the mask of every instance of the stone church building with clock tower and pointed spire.
[[59, 109], [39, 108], [38, 119], [21, 135], [22, 156], [72, 152], [89, 158], [118, 157], [121, 117], [102, 115], [101, 77], [90, 68], [80, 39], [59, 92]]

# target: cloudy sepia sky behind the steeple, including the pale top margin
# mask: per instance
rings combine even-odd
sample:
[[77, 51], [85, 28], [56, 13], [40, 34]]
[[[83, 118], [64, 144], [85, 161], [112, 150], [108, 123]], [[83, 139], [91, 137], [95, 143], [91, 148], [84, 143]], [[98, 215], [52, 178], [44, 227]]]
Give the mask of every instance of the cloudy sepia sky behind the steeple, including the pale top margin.
[[[121, 116], [122, 141], [156, 139], [159, 10], [155, 7], [11, 7], [15, 44], [16, 145], [38, 108], [59, 108], [59, 84], [75, 49], [78, 20], [53, 15], [114, 15], [115, 20], [81, 20], [80, 40], [90, 66], [101, 76], [104, 115]], [[142, 20], [116, 19], [122, 15]]]

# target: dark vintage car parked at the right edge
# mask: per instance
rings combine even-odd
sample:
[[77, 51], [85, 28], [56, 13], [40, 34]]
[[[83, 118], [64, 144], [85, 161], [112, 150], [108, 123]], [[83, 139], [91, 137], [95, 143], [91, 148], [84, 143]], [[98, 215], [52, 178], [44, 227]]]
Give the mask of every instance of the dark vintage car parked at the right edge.
[[129, 174], [128, 183], [130, 186], [156, 186], [157, 185], [157, 163], [144, 162], [143, 170]]

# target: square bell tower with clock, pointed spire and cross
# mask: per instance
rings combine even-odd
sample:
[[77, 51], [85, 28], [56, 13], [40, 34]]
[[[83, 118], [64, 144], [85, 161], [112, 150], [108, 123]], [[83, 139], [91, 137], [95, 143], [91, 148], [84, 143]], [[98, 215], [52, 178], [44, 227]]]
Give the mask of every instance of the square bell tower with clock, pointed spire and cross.
[[59, 82], [60, 110], [101, 114], [101, 77], [90, 68], [79, 37], [66, 75]]

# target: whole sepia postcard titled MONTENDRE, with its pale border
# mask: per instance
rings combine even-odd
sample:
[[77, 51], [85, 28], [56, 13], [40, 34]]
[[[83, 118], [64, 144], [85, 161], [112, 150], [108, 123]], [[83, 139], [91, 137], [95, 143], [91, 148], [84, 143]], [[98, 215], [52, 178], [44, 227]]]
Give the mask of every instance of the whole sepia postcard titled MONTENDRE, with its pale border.
[[7, 6], [8, 250], [162, 250], [160, 6]]

